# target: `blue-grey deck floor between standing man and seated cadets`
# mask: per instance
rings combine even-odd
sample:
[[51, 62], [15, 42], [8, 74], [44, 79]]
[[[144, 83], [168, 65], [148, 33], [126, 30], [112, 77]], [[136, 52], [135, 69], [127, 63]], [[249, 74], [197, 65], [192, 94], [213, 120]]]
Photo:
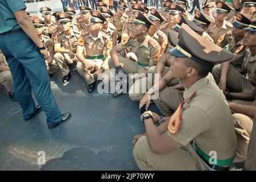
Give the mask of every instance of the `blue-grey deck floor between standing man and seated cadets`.
[[[66, 86], [59, 71], [50, 78], [62, 113], [72, 113], [69, 122], [53, 130], [43, 112], [23, 120], [18, 102], [0, 88], [0, 170], [138, 170], [132, 139], [145, 133], [139, 102], [96, 89], [89, 94], [77, 71], [71, 75]], [[45, 165], [38, 165], [38, 151], [45, 151]]]

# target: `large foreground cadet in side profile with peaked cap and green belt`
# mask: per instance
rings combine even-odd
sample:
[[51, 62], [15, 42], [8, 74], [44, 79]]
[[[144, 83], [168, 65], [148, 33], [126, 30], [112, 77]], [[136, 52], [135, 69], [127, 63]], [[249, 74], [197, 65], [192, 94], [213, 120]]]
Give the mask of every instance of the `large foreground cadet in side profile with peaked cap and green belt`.
[[[141, 115], [146, 133], [133, 139], [135, 162], [141, 170], [226, 171], [237, 145], [233, 117], [225, 96], [206, 76], [214, 64], [230, 60], [233, 54], [202, 38], [186, 24], [179, 32], [177, 47], [170, 53], [173, 65], [159, 81], [161, 91], [154, 100], [167, 117], [157, 127], [154, 123], [159, 115], [151, 111]], [[178, 96], [165, 87], [169, 77], [181, 78], [185, 100], [175, 99]], [[149, 90], [147, 97], [155, 90], [158, 88]], [[140, 107], [145, 103], [141, 101]], [[169, 117], [171, 105], [176, 111]]]

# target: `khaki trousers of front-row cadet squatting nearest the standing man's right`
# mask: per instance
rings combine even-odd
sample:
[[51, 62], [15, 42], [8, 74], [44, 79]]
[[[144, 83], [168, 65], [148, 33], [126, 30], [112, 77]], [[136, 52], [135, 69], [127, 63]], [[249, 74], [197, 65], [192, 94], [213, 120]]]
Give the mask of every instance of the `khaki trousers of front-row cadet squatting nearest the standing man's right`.
[[[95, 68], [93, 70], [88, 70], [85, 68], [85, 65], [79, 61], [77, 63], [77, 71], [83, 78], [85, 78], [85, 81], [87, 82], [87, 84], [92, 84], [95, 81], [93, 72], [95, 72], [98, 69], [101, 69], [103, 60], [101, 59], [87, 59], [87, 60], [90, 61], [90, 63], [93, 64]], [[110, 72], [109, 68], [107, 67], [105, 68], [105, 71], [98, 76], [98, 80], [102, 80], [103, 82], [108, 83], [111, 77], [113, 77], [113, 74]]]

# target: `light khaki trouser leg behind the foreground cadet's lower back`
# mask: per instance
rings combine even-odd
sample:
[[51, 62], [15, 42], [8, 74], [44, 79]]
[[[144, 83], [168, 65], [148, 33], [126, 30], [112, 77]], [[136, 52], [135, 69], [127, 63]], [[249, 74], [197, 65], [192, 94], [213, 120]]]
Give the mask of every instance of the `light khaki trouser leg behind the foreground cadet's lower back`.
[[246, 160], [247, 148], [253, 129], [253, 119], [244, 114], [233, 114], [235, 134], [237, 135], [237, 151], [233, 162], [242, 162]]

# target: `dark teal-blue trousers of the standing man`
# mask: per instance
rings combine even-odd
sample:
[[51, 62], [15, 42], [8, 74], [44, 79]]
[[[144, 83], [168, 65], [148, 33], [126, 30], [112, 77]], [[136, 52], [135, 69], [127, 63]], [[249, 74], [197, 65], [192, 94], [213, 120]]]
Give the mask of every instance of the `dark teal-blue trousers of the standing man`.
[[22, 30], [7, 32], [0, 34], [0, 49], [9, 64], [15, 97], [22, 107], [23, 117], [29, 118], [36, 112], [31, 96], [33, 90], [46, 114], [47, 125], [61, 122], [61, 110], [51, 92], [45, 59], [35, 43]]

